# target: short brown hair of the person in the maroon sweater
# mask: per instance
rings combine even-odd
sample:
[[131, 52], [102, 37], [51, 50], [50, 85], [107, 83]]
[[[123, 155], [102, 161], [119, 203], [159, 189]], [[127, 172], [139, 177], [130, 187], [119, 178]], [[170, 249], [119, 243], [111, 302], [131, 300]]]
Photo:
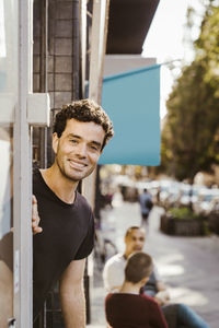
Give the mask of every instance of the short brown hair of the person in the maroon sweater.
[[129, 256], [125, 268], [125, 279], [131, 283], [138, 283], [143, 278], [150, 277], [153, 262], [150, 255], [138, 251]]

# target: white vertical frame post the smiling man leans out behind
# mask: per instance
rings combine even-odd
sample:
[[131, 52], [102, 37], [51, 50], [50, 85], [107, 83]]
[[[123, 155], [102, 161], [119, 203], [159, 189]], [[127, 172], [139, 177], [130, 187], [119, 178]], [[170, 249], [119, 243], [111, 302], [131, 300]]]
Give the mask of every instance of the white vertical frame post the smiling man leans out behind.
[[32, 327], [32, 133], [27, 94], [32, 91], [33, 3], [19, 1], [19, 102], [14, 121], [14, 318], [16, 328]]

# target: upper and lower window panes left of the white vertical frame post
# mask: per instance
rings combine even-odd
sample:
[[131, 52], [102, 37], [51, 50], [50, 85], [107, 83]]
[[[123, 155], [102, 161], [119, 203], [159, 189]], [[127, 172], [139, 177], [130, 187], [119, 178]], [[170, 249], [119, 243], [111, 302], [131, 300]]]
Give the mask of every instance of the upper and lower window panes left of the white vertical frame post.
[[[16, 1], [0, 0], [0, 110], [11, 110], [18, 97]], [[2, 118], [4, 116], [0, 116]], [[0, 327], [13, 315], [13, 128], [0, 120]]]

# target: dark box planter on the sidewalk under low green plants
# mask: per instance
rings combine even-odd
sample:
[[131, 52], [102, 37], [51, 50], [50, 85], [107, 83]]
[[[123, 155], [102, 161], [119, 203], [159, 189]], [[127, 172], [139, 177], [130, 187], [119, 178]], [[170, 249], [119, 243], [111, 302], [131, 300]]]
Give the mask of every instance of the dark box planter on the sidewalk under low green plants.
[[161, 231], [173, 236], [201, 236], [204, 235], [204, 221], [198, 219], [178, 219], [163, 214], [161, 216]]

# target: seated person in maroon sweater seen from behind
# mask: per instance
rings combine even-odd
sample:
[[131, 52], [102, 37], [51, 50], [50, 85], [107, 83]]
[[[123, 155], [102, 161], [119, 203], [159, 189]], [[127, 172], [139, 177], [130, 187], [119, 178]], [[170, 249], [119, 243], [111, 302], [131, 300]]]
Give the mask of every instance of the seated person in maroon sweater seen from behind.
[[106, 296], [105, 313], [111, 327], [168, 328], [158, 303], [146, 294], [139, 294], [152, 269], [152, 259], [146, 253], [135, 253], [129, 257], [119, 292]]

